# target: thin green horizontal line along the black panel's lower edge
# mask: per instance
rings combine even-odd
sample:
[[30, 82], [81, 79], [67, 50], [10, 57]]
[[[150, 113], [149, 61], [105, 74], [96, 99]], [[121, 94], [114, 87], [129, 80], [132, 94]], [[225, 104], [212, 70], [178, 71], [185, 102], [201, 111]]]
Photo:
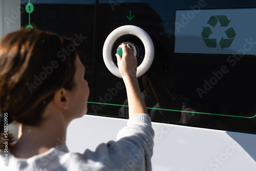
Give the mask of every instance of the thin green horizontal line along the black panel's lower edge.
[[[115, 106], [126, 106], [126, 107], [128, 107], [128, 105], [122, 105], [122, 104], [99, 103], [99, 102], [90, 102], [90, 101], [88, 101], [88, 103], [104, 104], [104, 105], [115, 105]], [[203, 114], [203, 115], [218, 115], [218, 116], [228, 116], [228, 117], [248, 118], [248, 119], [252, 119], [252, 118], [256, 117], [256, 114], [254, 116], [252, 116], [252, 117], [248, 117], [248, 116], [233, 116], [233, 115], [211, 114], [211, 113], [203, 113], [203, 112], [179, 111], [179, 110], [173, 110], [173, 109], [159, 109], [159, 108], [146, 108], [146, 109], [155, 109], [155, 110], [173, 111], [173, 112], [196, 113], [196, 114]]]

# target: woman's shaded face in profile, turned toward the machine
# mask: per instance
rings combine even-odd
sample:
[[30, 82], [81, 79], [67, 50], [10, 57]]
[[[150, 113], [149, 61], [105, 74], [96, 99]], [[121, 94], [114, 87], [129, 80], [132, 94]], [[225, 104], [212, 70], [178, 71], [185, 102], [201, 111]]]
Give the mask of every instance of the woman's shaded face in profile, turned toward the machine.
[[87, 80], [84, 79], [84, 73], [86, 69], [82, 65], [79, 57], [76, 56], [75, 60], [75, 85], [71, 90], [71, 113], [76, 114], [77, 117], [82, 117], [87, 113], [87, 101], [90, 94], [89, 86]]

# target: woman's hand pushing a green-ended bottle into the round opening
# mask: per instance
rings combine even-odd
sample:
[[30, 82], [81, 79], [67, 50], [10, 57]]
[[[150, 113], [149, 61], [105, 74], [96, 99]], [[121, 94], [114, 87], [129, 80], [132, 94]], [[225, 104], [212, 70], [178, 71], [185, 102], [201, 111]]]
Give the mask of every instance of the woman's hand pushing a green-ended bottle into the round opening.
[[117, 57], [117, 66], [122, 77], [136, 77], [137, 72], [137, 58], [133, 50], [129, 47], [129, 45], [120, 45], [119, 48], [122, 48], [123, 56]]

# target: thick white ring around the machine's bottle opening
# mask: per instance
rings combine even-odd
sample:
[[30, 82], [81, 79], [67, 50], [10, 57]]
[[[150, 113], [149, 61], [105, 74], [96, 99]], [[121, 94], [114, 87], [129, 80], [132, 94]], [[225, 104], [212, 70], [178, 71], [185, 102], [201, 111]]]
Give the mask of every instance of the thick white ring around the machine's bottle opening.
[[104, 42], [103, 51], [102, 51], [103, 60], [106, 67], [109, 69], [109, 71], [112, 74], [114, 74], [119, 78], [122, 78], [118, 67], [115, 65], [113, 61], [112, 48], [115, 41], [119, 37], [123, 35], [128, 35], [128, 34], [137, 36], [142, 41], [145, 48], [144, 59], [140, 64], [140, 66], [137, 68], [136, 77], [138, 78], [141, 75], [143, 75], [148, 69], [150, 69], [154, 59], [154, 55], [155, 55], [155, 48], [154, 48], [153, 41], [150, 35], [148, 35], [147, 32], [145, 32], [143, 29], [137, 26], [126, 25], [126, 26], [118, 27], [117, 29], [113, 30]]

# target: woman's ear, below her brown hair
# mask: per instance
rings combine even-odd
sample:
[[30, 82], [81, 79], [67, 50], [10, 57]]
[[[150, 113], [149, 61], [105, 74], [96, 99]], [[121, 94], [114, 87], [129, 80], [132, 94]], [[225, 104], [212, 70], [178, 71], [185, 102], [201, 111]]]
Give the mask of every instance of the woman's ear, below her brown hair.
[[61, 109], [68, 110], [68, 92], [64, 88], [59, 89], [54, 93], [53, 102]]

